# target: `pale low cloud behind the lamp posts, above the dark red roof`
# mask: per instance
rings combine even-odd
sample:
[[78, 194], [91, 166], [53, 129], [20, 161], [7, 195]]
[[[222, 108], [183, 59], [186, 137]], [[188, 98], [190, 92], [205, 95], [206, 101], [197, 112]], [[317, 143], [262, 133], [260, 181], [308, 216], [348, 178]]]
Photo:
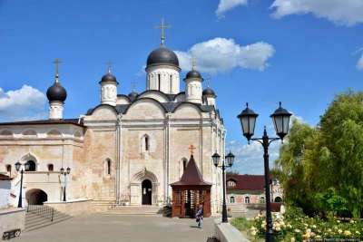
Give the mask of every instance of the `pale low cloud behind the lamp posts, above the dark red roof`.
[[[227, 149], [229, 151], [229, 149]], [[231, 143], [231, 152], [236, 156], [232, 170], [240, 171], [240, 174], [264, 174], [263, 148], [260, 143], [250, 141], [249, 144], [240, 144], [236, 141]], [[270, 144], [270, 169], [273, 168], [274, 161], [278, 159], [280, 153], [280, 141]]]

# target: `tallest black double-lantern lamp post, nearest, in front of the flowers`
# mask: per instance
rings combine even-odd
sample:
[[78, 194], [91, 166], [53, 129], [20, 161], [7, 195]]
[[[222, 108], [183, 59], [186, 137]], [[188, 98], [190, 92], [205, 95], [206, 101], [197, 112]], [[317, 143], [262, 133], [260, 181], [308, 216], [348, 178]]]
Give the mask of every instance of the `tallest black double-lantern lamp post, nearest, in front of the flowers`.
[[247, 140], [258, 141], [263, 147], [263, 159], [265, 166], [265, 192], [266, 192], [266, 241], [273, 242], [272, 217], [271, 217], [271, 201], [270, 201], [270, 169], [269, 169], [269, 146], [275, 140], [283, 140], [289, 131], [289, 117], [291, 113], [281, 107], [274, 111], [270, 117], [272, 118], [276, 134], [279, 138], [270, 138], [267, 135], [266, 126], [261, 138], [252, 138], [255, 130], [256, 119], [259, 114], [250, 110], [249, 103], [246, 103], [246, 109], [240, 112], [238, 119], [242, 128], [243, 135]]

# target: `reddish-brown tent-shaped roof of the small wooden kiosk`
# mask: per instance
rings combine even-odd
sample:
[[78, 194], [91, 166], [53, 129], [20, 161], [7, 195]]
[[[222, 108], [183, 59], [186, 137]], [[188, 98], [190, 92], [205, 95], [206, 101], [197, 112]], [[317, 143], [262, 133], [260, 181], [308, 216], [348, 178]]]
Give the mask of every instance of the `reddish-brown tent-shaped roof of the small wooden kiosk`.
[[171, 186], [211, 186], [211, 183], [204, 181], [201, 171], [195, 164], [193, 155], [191, 155], [191, 159], [182, 173], [181, 180], [172, 183]]

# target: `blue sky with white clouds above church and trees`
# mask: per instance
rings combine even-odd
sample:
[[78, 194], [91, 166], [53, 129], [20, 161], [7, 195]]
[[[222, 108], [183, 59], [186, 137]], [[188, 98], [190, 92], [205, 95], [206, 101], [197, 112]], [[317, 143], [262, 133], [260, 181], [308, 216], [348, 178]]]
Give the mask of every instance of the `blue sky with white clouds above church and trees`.
[[0, 0], [0, 121], [46, 117], [42, 92], [54, 82], [54, 58], [64, 62], [66, 118], [99, 103], [108, 60], [118, 92], [130, 92], [132, 81], [142, 92], [162, 17], [183, 71], [195, 55], [211, 75], [241, 173], [263, 172], [260, 147], [246, 145], [236, 119], [245, 102], [260, 113], [260, 134], [280, 101], [316, 125], [335, 94], [363, 88], [361, 0]]

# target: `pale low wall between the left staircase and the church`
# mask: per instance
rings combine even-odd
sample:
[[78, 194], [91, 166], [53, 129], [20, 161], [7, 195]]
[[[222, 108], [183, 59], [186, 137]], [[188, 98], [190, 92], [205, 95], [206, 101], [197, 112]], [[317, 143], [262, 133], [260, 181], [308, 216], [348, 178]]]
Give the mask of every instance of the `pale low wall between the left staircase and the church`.
[[92, 199], [71, 200], [65, 202], [44, 202], [44, 205], [52, 207], [70, 216], [79, 216], [94, 212]]

